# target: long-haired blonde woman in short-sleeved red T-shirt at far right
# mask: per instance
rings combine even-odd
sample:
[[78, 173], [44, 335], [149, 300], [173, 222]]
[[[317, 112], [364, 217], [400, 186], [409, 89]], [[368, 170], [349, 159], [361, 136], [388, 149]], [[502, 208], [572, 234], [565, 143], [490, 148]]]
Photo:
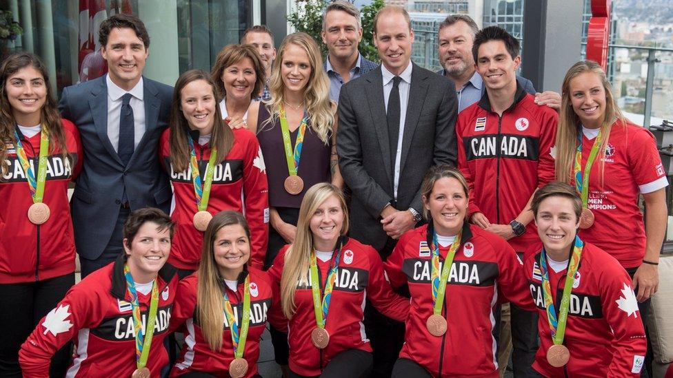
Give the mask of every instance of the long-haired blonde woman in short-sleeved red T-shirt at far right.
[[659, 284], [667, 220], [659, 151], [652, 133], [624, 118], [598, 63], [570, 67], [562, 92], [556, 178], [581, 193], [581, 238], [610, 253], [632, 277], [644, 323]]

